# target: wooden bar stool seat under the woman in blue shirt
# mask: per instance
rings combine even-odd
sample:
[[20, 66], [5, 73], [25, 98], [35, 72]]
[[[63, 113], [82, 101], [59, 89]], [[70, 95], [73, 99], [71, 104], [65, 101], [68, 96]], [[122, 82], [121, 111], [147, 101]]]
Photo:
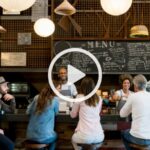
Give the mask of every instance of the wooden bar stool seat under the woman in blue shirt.
[[49, 144], [33, 143], [28, 140], [24, 141], [23, 145], [26, 150], [48, 150], [49, 147]]

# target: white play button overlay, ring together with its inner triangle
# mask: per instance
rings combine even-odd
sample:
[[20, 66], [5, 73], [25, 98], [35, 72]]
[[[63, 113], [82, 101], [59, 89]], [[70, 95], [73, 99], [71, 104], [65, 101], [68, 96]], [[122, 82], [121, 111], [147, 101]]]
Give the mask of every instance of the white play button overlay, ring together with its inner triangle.
[[[53, 79], [52, 79], [53, 67], [54, 67], [56, 61], [63, 55], [68, 54], [68, 53], [73, 53], [73, 52], [78, 52], [78, 53], [81, 53], [81, 54], [84, 54], [84, 55], [87, 55], [88, 57], [90, 57], [90, 59], [95, 63], [95, 65], [97, 67], [97, 74], [98, 74], [98, 80], [95, 85], [95, 88], [88, 95], [85, 95], [83, 97], [77, 97], [77, 98], [70, 98], [70, 97], [62, 95], [55, 88], [55, 86], [53, 84]], [[86, 76], [86, 74], [84, 72], [82, 72], [78, 68], [75, 68], [71, 64], [69, 64], [67, 66], [67, 70], [68, 70], [68, 84], [73, 84]], [[52, 90], [58, 97], [60, 97], [63, 100], [69, 101], [69, 102], [81, 102], [81, 101], [87, 100], [90, 97], [92, 97], [99, 89], [99, 87], [101, 85], [101, 80], [102, 80], [102, 69], [101, 69], [99, 61], [92, 53], [90, 53], [87, 50], [81, 49], [81, 48], [69, 48], [69, 49], [63, 50], [62, 52], [58, 53], [51, 61], [49, 69], [48, 69], [48, 81], [49, 81], [50, 87], [52, 88]]]

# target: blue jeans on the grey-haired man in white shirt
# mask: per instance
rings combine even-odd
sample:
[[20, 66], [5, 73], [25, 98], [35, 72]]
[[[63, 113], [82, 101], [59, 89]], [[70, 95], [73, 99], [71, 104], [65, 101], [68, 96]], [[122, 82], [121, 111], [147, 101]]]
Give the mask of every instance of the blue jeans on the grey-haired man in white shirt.
[[121, 137], [123, 140], [123, 143], [127, 150], [132, 150], [132, 148], [129, 146], [129, 143], [134, 143], [138, 145], [150, 145], [150, 140], [140, 139], [132, 136], [129, 133], [130, 130], [122, 131]]

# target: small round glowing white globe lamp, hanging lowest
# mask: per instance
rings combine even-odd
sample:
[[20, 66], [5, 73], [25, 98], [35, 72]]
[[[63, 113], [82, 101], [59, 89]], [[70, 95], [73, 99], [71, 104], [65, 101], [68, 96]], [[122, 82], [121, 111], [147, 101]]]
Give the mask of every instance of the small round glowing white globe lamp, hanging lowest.
[[34, 31], [41, 37], [48, 37], [54, 33], [55, 25], [48, 18], [40, 18], [34, 24]]

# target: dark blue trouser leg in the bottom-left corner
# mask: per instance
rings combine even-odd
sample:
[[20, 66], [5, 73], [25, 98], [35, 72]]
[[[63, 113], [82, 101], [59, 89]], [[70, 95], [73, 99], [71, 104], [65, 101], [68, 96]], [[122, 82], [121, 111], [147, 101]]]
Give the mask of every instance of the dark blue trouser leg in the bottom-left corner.
[[14, 150], [14, 143], [3, 134], [0, 134], [0, 149]]

